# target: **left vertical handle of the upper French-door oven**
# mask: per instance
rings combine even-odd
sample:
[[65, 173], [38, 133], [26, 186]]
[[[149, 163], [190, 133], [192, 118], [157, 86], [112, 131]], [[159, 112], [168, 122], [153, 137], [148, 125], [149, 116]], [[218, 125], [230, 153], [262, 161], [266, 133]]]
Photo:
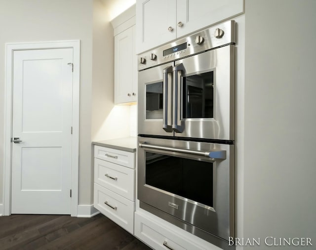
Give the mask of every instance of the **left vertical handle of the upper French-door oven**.
[[[171, 114], [172, 107], [168, 105], [168, 95], [171, 93], [168, 93], [168, 74], [172, 74], [172, 66], [169, 66], [165, 69], [163, 69], [163, 90], [162, 95], [164, 97], [163, 103], [162, 103], [162, 110], [163, 110], [163, 118], [162, 118], [162, 128], [166, 132], [172, 132], [172, 126], [168, 124], [168, 114]], [[170, 121], [169, 121], [170, 122]]]

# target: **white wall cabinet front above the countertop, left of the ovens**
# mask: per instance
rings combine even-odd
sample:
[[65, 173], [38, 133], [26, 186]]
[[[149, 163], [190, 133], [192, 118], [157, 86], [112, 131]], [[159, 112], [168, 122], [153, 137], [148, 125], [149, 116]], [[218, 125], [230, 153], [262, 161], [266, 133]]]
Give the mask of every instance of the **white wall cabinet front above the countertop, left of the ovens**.
[[115, 36], [115, 103], [136, 101], [136, 55], [135, 55], [134, 26]]

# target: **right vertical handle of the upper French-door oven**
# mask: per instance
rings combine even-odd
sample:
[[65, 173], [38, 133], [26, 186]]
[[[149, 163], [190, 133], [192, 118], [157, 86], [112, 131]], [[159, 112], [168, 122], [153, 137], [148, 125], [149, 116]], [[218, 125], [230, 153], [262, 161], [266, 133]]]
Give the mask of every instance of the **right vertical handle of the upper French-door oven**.
[[[176, 133], [182, 133], [183, 132], [183, 126], [181, 126], [180, 121], [180, 99], [178, 98], [180, 94], [181, 86], [178, 84], [178, 72], [184, 71], [185, 68], [182, 63], [177, 64], [173, 67], [173, 123], [172, 123], [172, 129]], [[179, 116], [179, 117], [178, 117]]]

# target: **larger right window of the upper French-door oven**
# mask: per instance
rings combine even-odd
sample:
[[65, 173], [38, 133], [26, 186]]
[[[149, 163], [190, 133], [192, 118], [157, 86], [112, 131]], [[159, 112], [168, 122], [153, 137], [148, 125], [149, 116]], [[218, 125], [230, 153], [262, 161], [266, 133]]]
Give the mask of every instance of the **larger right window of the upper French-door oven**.
[[214, 118], [214, 72], [182, 78], [182, 118]]

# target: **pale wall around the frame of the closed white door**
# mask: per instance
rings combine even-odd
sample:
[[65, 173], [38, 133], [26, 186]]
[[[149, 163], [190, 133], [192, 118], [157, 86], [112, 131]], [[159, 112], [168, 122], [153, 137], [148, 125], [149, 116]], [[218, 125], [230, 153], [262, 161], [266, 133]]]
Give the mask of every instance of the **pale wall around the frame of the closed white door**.
[[[91, 159], [92, 0], [0, 1], [0, 203], [3, 183], [4, 52], [6, 42], [81, 40], [80, 71], [80, 184]], [[88, 204], [90, 193], [79, 190], [79, 203]]]

